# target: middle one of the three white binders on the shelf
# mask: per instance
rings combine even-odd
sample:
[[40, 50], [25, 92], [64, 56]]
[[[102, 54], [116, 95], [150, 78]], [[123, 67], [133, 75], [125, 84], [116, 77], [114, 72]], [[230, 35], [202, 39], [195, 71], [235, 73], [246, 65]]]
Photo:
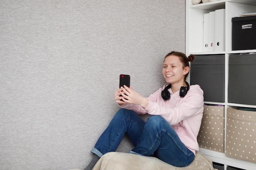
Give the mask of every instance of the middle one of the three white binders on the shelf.
[[210, 12], [209, 15], [209, 51], [215, 51], [215, 11]]

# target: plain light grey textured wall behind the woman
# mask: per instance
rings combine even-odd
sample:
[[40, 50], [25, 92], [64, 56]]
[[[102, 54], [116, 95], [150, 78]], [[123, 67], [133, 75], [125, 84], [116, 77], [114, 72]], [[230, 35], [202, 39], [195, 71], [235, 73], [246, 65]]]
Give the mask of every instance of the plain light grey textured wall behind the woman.
[[172, 50], [185, 52], [183, 0], [1, 1], [0, 169], [84, 168], [119, 74], [148, 96]]

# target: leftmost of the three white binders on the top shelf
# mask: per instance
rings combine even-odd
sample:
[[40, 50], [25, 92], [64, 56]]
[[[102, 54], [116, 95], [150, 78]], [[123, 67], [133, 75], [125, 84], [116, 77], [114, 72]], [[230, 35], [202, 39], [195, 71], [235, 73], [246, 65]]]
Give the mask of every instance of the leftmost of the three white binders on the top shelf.
[[204, 33], [203, 33], [203, 52], [208, 52], [210, 48], [209, 44], [209, 16], [210, 13], [205, 13], [204, 14]]

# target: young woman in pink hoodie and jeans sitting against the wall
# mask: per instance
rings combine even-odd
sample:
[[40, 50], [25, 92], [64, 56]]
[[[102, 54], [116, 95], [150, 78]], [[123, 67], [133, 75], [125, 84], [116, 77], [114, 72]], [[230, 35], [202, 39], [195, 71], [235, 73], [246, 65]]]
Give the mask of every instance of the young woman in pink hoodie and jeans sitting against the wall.
[[[115, 151], [125, 133], [135, 146], [130, 153], [154, 156], [178, 167], [193, 161], [204, 105], [200, 86], [186, 82], [194, 57], [175, 51], [167, 54], [162, 71], [167, 84], [147, 98], [127, 86], [115, 92], [121, 109], [99, 137], [85, 170], [91, 170], [102, 155]], [[146, 113], [153, 116], [144, 122], [138, 115]]]

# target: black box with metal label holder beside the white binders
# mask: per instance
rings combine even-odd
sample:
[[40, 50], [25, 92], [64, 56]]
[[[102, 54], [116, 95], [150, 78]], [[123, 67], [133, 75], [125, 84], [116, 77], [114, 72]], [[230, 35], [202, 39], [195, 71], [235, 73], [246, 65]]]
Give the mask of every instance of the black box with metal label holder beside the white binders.
[[232, 50], [256, 49], [256, 16], [232, 18]]

